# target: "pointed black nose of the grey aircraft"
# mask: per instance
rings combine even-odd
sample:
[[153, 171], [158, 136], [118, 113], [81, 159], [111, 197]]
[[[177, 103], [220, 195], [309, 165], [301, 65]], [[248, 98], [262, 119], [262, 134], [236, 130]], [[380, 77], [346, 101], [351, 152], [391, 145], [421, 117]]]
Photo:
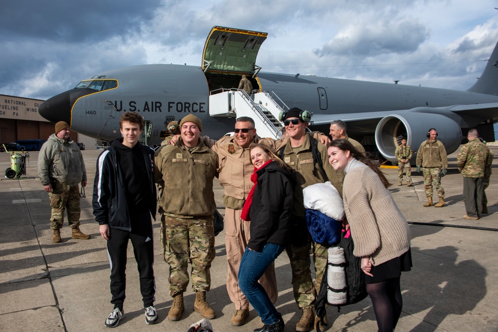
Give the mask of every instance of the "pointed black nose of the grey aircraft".
[[41, 103], [38, 112], [41, 116], [50, 122], [57, 123], [65, 121], [71, 124], [71, 110], [78, 98], [95, 93], [96, 91], [88, 88], [72, 89]]

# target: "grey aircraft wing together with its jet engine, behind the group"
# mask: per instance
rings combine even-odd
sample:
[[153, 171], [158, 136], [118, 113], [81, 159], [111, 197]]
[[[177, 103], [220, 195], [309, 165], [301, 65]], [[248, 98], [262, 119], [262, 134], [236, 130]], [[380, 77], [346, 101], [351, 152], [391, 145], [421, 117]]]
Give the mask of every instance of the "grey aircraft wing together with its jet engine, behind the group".
[[[351, 137], [361, 138], [364, 135], [374, 134], [375, 145], [379, 152], [386, 159], [396, 162], [394, 150], [400, 143], [400, 136], [407, 137], [408, 145], [415, 149], [427, 139], [427, 131], [433, 127], [437, 128], [438, 140], [443, 142], [448, 153], [458, 149], [465, 136], [465, 129], [478, 128], [482, 136], [493, 137], [493, 124], [490, 122], [498, 121], [498, 103], [315, 114], [312, 120], [313, 130], [327, 132], [332, 120], [342, 120], [346, 122], [346, 131]], [[488, 124], [483, 124], [485, 122]], [[366, 144], [373, 143], [373, 141], [366, 142]]]

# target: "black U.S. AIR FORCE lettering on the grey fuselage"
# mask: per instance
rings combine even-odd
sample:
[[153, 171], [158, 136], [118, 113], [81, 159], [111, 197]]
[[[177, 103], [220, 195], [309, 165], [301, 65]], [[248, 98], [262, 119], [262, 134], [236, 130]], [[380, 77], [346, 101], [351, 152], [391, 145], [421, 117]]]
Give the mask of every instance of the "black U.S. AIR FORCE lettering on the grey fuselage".
[[[123, 107], [124, 105], [124, 107]], [[128, 108], [127, 108], [128, 105]], [[167, 109], [163, 109], [162, 102], [135, 102], [130, 101], [128, 104], [123, 103], [123, 101], [114, 101], [109, 103], [109, 107], [106, 109], [113, 108], [116, 111], [131, 111], [131, 112], [178, 112], [178, 113], [205, 113], [207, 111], [206, 103], [197, 102], [167, 102]]]

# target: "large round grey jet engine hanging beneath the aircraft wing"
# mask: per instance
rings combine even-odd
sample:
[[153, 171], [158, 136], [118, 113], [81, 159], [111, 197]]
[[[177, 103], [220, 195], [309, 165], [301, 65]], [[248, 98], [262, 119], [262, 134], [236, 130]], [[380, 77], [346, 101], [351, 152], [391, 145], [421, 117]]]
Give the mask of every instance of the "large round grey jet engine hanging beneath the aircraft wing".
[[416, 152], [427, 139], [431, 128], [438, 132], [438, 140], [444, 144], [448, 154], [458, 149], [462, 142], [460, 125], [446, 115], [423, 112], [404, 112], [384, 117], [375, 128], [375, 143], [387, 160], [397, 163], [394, 151], [401, 144], [400, 136], [405, 136], [413, 150], [411, 164], [415, 165]]

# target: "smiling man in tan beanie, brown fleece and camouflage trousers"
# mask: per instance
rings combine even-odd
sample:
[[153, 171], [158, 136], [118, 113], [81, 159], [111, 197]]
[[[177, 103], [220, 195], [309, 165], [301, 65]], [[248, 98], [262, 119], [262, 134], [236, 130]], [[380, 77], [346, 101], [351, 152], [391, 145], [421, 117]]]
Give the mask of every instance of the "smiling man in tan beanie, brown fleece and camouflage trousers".
[[209, 269], [214, 259], [213, 211], [216, 209], [213, 178], [217, 176], [216, 153], [199, 140], [200, 119], [192, 114], [180, 121], [180, 139], [156, 151], [155, 181], [165, 190], [159, 206], [162, 241], [169, 264], [169, 293], [173, 304], [170, 321], [178, 321], [184, 311], [183, 292], [188, 285], [191, 263], [192, 289], [196, 293], [194, 310], [203, 318], [216, 317], [206, 301], [211, 287]]

